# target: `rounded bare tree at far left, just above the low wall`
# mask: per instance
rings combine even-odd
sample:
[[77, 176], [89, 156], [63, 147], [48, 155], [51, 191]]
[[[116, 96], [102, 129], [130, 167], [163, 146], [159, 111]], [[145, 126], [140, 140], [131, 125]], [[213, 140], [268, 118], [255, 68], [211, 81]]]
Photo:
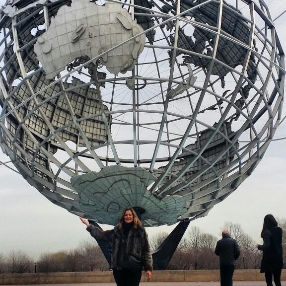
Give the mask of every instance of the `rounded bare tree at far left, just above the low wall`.
[[7, 258], [8, 273], [29, 272], [33, 264], [32, 259], [22, 250], [10, 251]]

